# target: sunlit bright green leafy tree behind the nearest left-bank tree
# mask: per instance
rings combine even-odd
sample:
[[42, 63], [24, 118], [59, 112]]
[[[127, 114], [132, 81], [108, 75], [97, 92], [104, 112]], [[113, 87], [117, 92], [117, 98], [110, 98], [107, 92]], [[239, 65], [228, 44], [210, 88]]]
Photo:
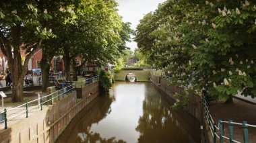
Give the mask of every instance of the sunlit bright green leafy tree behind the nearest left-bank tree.
[[[65, 15], [53, 17], [53, 33], [57, 38], [45, 40], [42, 44], [43, 89], [49, 86], [49, 67], [53, 56], [63, 55], [65, 76], [69, 79], [70, 66], [73, 67], [73, 81], [77, 71], [86, 62], [106, 64], [114, 62], [127, 47], [133, 32], [117, 14], [115, 1], [76, 1], [61, 7]], [[79, 66], [76, 58], [82, 58]], [[46, 64], [48, 63], [48, 64]]]

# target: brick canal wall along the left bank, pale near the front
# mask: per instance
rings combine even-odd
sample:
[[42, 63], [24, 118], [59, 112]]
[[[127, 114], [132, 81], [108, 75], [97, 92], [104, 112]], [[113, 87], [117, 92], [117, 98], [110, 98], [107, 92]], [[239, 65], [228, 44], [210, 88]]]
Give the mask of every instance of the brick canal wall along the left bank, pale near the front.
[[55, 142], [73, 117], [99, 95], [98, 81], [82, 87], [81, 91], [82, 99], [77, 99], [77, 92], [73, 91], [7, 130], [0, 130], [0, 143]]

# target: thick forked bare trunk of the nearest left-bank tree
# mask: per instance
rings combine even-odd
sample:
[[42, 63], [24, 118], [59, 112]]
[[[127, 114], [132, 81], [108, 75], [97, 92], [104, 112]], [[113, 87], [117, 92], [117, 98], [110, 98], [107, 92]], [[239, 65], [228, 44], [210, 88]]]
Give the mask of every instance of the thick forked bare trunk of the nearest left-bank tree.
[[40, 48], [42, 38], [40, 38], [36, 44], [33, 43], [30, 45], [31, 52], [28, 52], [25, 60], [22, 61], [22, 55], [20, 53], [20, 50], [22, 50], [22, 22], [15, 23], [15, 26], [11, 26], [10, 30], [11, 40], [13, 42], [10, 42], [0, 30], [0, 48], [1, 52], [7, 57], [9, 71], [11, 72], [13, 87], [11, 101], [20, 102], [23, 100], [24, 77], [28, 71], [28, 61], [36, 50]]

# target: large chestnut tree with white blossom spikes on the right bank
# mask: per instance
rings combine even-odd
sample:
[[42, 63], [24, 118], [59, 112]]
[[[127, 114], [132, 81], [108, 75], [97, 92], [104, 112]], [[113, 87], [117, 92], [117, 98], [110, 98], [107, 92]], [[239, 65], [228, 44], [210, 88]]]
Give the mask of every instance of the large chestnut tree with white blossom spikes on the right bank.
[[156, 13], [158, 28], [147, 29], [154, 38], [148, 51], [171, 73], [171, 83], [187, 91], [207, 89], [226, 98], [241, 91], [255, 97], [255, 4], [166, 1]]

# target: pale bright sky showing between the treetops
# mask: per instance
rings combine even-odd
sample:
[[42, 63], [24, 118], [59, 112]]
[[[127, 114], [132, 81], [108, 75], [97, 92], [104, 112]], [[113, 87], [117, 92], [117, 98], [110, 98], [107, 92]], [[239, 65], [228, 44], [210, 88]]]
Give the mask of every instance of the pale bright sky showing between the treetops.
[[[119, 3], [118, 13], [123, 17], [124, 22], [131, 22], [131, 28], [136, 30], [139, 20], [143, 18], [146, 13], [155, 11], [159, 3], [166, 0], [116, 0]], [[131, 50], [137, 48], [136, 42], [129, 42], [126, 44]]]

